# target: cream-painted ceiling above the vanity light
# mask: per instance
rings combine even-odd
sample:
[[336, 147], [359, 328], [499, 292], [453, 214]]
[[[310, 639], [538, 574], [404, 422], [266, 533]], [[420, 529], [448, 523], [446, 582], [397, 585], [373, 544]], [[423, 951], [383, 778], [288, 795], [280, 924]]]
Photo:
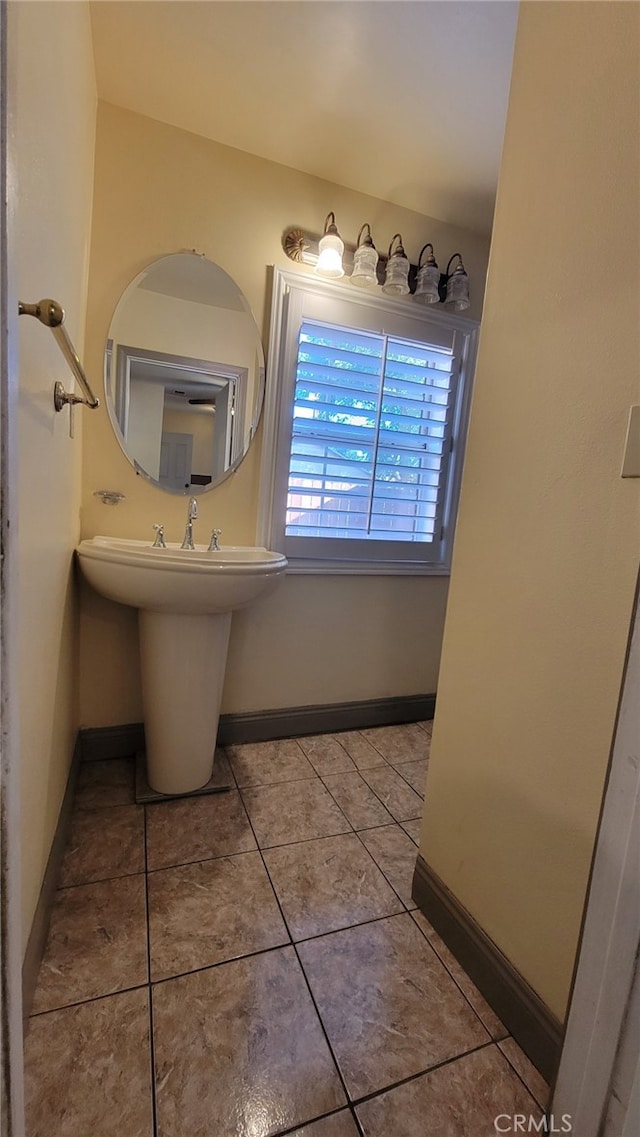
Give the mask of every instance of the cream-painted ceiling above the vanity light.
[[489, 233], [512, 0], [99, 0], [108, 102]]

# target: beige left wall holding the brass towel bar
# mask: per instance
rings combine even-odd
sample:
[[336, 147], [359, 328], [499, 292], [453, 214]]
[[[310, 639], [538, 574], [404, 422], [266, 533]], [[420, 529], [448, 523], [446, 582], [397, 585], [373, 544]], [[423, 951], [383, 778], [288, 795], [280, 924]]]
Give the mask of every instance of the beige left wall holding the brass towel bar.
[[[20, 299], [51, 296], [82, 354], [95, 130], [89, 6], [11, 3], [16, 107], [13, 260]], [[77, 729], [76, 603], [81, 428], [53, 410], [73, 380], [51, 335], [19, 321], [19, 690], [23, 940], [58, 820]], [[86, 414], [86, 412], [84, 412]]]

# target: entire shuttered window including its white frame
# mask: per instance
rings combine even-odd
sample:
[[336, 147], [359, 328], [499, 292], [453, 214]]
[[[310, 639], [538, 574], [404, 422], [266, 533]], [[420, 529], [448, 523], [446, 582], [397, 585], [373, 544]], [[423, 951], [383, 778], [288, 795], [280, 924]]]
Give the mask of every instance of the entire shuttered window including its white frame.
[[446, 572], [476, 325], [275, 271], [260, 539], [300, 572]]

